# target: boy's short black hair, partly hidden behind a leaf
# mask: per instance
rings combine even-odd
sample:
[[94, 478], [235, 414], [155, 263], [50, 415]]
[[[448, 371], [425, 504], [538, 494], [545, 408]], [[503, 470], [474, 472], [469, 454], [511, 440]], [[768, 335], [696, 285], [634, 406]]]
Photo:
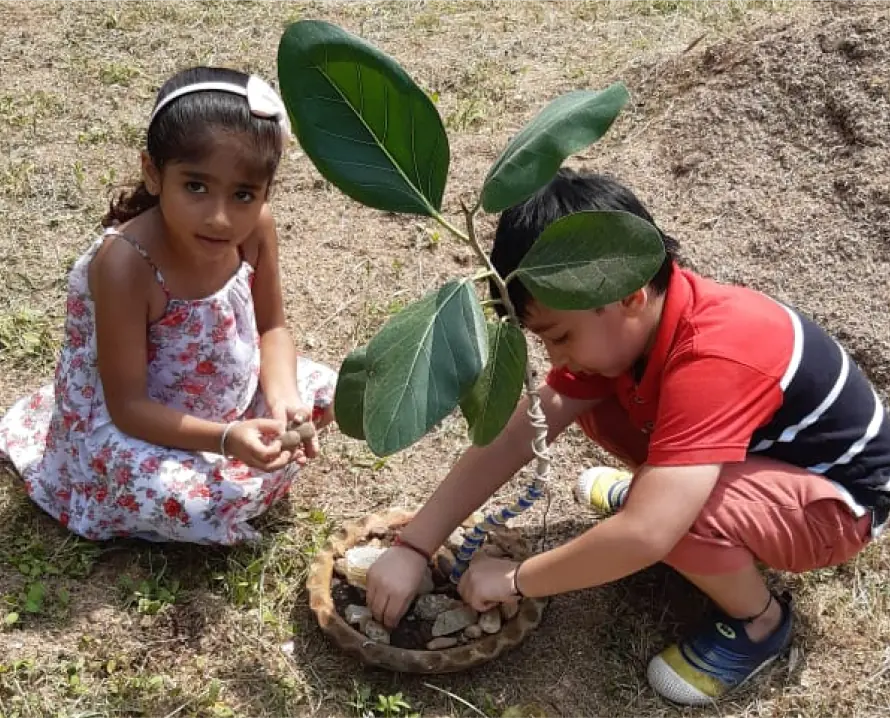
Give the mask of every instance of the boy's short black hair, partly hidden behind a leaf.
[[[655, 225], [652, 216], [633, 192], [615, 180], [604, 175], [562, 168], [546, 187], [501, 214], [491, 248], [491, 263], [498, 274], [506, 277], [514, 271], [548, 225], [568, 214], [585, 210], [623, 210]], [[664, 242], [665, 259], [649, 286], [656, 294], [664, 294], [680, 244], [660, 229], [658, 231]], [[489, 287], [492, 297], [498, 298], [494, 283], [490, 283]], [[531, 294], [518, 279], [512, 280], [507, 290], [516, 313], [520, 320], [524, 320]], [[498, 304], [495, 306], [498, 313], [503, 315], [503, 308]]]

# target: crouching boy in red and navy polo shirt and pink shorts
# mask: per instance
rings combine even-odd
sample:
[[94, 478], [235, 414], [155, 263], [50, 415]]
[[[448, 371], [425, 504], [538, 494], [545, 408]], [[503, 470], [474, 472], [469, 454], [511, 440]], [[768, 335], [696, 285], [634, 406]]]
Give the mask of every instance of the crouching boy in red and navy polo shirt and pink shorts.
[[[601, 176], [562, 170], [500, 218], [492, 262], [511, 272], [553, 221], [582, 210], [652, 218]], [[511, 298], [552, 363], [541, 399], [553, 441], [572, 422], [633, 470], [589, 469], [579, 498], [611, 514], [517, 565], [480, 557], [461, 580], [479, 610], [615, 581], [663, 561], [716, 604], [703, 631], [649, 664], [677, 703], [710, 702], [783, 653], [788, 601], [755, 566], [802, 572], [847, 561], [890, 513], [890, 421], [874, 389], [818, 326], [757, 292], [676, 266], [620, 302], [556, 311], [517, 282]], [[401, 545], [368, 575], [368, 605], [393, 626], [431, 553], [532, 459], [525, 400], [490, 445], [470, 448]], [[620, 510], [619, 510], [620, 509]]]

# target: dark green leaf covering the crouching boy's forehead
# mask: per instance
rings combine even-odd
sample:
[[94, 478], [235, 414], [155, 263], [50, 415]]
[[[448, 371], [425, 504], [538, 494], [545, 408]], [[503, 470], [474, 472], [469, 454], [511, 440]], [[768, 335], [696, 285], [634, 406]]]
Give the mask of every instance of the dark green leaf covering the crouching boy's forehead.
[[663, 261], [661, 235], [646, 220], [577, 212], [547, 227], [507, 279], [551, 309], [593, 309], [646, 286]]

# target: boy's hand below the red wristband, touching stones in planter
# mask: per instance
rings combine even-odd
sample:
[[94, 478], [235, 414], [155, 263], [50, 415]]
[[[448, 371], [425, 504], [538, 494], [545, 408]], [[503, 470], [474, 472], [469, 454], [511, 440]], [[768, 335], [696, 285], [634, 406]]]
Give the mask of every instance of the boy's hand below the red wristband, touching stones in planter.
[[367, 603], [374, 620], [389, 629], [398, 625], [417, 595], [426, 570], [423, 556], [393, 546], [368, 569]]

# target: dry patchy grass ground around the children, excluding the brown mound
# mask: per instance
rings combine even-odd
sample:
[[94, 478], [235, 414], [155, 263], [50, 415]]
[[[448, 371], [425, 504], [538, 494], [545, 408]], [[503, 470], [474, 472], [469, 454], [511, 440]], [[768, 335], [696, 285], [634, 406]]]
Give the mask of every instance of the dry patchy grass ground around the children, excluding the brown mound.
[[[446, 211], [455, 213], [456, 198], [478, 187], [497, 149], [545, 100], [602, 87], [640, 63], [681, 53], [703, 33], [717, 41], [795, 5], [809, 7], [807, 0], [47, 0], [25, 12], [21, 2], [0, 0], [4, 19], [22, 30], [8, 51], [4, 38], [0, 53], [3, 406], [50, 381], [66, 272], [95, 237], [108, 190], [135, 176], [153, 93], [175, 69], [206, 61], [274, 77], [281, 29], [299, 17], [362, 34], [436, 97], [452, 138]], [[644, 127], [645, 112], [633, 109], [626, 122]], [[655, 163], [659, 144], [650, 141]], [[273, 202], [289, 322], [298, 345], [315, 337], [313, 355], [331, 364], [443, 276], [465, 271], [462, 248], [432, 225], [357, 207], [295, 151]], [[483, 223], [490, 231], [491, 218]], [[801, 656], [719, 709], [675, 711], [645, 686], [646, 659], [700, 605], [685, 585], [668, 580], [664, 588], [660, 573], [559, 599], [526, 644], [465, 676], [392, 676], [344, 657], [308, 607], [314, 553], [343, 520], [419, 503], [464, 444], [463, 427], [450, 420], [388, 459], [331, 434], [290, 500], [260, 522], [262, 540], [233, 549], [81, 541], [0, 469], [0, 717], [827, 718], [887, 708], [883, 544], [846, 567], [779, 577], [806, 619]], [[571, 476], [594, 458], [573, 435], [554, 471]], [[584, 524], [561, 491], [551, 519], [560, 518], [566, 535], [577, 533]]]

